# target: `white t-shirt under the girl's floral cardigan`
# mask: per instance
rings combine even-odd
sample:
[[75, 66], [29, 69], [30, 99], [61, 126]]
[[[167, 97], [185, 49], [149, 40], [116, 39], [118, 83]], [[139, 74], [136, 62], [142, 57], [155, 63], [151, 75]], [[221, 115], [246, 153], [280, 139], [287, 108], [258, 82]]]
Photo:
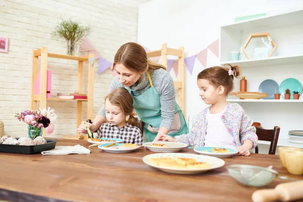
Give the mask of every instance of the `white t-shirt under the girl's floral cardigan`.
[[208, 121], [204, 146], [211, 147], [225, 147], [236, 149], [237, 145], [235, 139], [231, 136], [228, 129], [221, 120], [226, 108], [218, 113], [211, 114], [208, 110], [206, 120]]

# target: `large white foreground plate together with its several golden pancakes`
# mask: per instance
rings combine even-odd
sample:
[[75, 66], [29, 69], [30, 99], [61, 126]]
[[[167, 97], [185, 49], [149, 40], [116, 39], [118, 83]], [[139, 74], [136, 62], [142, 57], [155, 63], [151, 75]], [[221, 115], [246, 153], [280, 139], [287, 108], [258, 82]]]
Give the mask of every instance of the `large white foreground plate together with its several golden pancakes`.
[[146, 155], [142, 160], [148, 166], [175, 174], [204, 173], [225, 165], [216, 157], [186, 153], [157, 153]]

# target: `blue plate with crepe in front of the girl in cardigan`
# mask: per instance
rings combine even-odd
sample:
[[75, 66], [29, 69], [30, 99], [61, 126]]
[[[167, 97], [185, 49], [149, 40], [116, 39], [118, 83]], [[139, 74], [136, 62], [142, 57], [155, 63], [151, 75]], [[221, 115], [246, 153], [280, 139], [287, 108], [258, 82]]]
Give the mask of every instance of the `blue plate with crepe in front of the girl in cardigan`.
[[201, 155], [207, 155], [218, 158], [227, 158], [232, 157], [238, 154], [238, 151], [233, 148], [224, 148], [224, 147], [195, 147], [193, 149], [196, 153]]

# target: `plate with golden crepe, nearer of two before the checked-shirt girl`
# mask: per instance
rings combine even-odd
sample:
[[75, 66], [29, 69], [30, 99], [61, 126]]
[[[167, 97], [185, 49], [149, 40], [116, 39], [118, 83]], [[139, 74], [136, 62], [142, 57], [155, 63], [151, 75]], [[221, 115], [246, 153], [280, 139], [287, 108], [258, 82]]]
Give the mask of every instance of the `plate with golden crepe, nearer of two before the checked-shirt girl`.
[[[112, 145], [114, 144], [114, 145]], [[138, 149], [140, 146], [132, 143], [107, 143], [99, 144], [98, 148], [110, 153], [127, 153]]]

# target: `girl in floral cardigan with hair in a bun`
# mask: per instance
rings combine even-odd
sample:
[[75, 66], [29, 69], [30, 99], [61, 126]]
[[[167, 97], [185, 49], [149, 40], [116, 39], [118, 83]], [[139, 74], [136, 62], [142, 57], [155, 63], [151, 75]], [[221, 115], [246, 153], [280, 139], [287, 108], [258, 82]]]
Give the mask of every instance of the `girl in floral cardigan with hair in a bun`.
[[174, 138], [159, 134], [154, 141], [183, 142], [190, 146], [227, 147], [238, 150], [238, 155], [249, 156], [249, 150], [257, 146], [258, 136], [252, 120], [238, 104], [227, 103], [233, 90], [233, 79], [240, 75], [240, 67], [211, 67], [197, 76], [200, 97], [211, 105], [200, 112], [190, 133]]

